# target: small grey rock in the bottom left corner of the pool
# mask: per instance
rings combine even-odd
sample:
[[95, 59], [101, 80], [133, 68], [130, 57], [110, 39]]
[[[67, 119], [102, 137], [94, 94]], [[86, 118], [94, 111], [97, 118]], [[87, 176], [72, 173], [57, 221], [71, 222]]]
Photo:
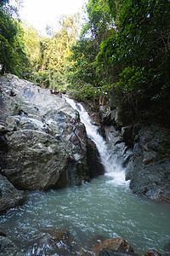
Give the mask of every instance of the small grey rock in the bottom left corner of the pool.
[[0, 255], [1, 256], [24, 256], [19, 252], [19, 248], [14, 245], [7, 237], [0, 236]]

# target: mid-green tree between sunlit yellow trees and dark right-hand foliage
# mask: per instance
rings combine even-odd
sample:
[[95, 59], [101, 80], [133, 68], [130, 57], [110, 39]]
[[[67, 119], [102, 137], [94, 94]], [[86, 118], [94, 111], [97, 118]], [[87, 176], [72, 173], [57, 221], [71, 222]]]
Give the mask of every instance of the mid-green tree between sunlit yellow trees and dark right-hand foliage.
[[74, 96], [90, 100], [99, 96], [99, 75], [96, 73], [95, 59], [100, 44], [115, 32], [115, 22], [106, 0], [90, 0], [87, 15], [88, 20], [82, 26], [81, 36], [71, 49], [74, 65], [68, 81]]

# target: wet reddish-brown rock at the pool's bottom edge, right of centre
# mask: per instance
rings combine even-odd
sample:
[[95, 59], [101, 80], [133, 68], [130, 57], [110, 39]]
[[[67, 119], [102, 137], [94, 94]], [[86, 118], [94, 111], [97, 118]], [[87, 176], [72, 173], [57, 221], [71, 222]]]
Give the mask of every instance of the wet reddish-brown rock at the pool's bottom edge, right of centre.
[[102, 249], [111, 249], [122, 252], [133, 253], [133, 247], [125, 241], [122, 237], [112, 238], [105, 241], [99, 241], [94, 247], [91, 247], [87, 250], [82, 251], [80, 255], [97, 255]]

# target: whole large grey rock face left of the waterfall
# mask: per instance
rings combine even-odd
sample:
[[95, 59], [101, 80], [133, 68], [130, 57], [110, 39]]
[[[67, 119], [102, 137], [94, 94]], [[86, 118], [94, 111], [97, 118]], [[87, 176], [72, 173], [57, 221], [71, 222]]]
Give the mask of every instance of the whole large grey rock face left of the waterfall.
[[50, 90], [14, 75], [0, 81], [0, 172], [26, 190], [88, 179], [87, 137], [77, 111]]

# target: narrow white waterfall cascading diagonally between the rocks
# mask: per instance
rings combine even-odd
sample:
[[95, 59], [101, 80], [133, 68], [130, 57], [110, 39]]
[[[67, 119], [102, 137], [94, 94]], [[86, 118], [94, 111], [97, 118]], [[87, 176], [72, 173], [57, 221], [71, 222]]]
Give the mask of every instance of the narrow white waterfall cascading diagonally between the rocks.
[[125, 172], [121, 164], [116, 160], [116, 154], [111, 154], [111, 149], [105, 142], [104, 138], [99, 135], [98, 126], [94, 125], [88, 115], [88, 112], [83, 108], [81, 103], [75, 102], [70, 98], [65, 97], [72, 108], [76, 109], [80, 115], [81, 122], [85, 125], [88, 137], [94, 141], [99, 151], [99, 156], [102, 165], [105, 167], [105, 175], [111, 177], [110, 183], [118, 185], [127, 185], [125, 181]]

